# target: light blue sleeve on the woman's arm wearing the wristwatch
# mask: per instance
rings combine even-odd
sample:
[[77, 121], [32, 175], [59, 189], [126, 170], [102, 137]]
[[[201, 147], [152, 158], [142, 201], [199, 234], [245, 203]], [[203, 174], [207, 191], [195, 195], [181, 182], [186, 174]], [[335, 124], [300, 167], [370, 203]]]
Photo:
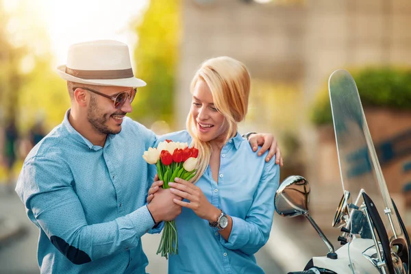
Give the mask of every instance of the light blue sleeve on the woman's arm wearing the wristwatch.
[[220, 236], [224, 247], [253, 254], [266, 244], [273, 224], [274, 197], [278, 185], [279, 166], [272, 159], [264, 164], [262, 177], [245, 219], [231, 216], [233, 224], [228, 241]]

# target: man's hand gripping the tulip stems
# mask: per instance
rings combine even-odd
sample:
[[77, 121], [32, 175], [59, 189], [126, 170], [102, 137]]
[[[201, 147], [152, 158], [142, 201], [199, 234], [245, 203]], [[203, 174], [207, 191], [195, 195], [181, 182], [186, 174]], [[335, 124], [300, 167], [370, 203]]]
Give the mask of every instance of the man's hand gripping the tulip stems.
[[180, 199], [180, 197], [170, 192], [170, 189], [158, 188], [154, 193], [153, 199], [147, 205], [154, 222], [173, 221], [180, 213], [182, 207], [173, 202], [173, 199]]

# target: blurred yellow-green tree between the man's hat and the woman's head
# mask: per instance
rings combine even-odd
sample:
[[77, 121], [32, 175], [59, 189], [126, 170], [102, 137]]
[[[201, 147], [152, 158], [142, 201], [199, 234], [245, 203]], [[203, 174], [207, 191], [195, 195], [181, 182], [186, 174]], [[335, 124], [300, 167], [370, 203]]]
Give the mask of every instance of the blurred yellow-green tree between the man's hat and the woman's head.
[[180, 1], [151, 0], [142, 21], [134, 23], [136, 76], [147, 82], [137, 92], [130, 114], [150, 126], [158, 120], [173, 128], [175, 77], [180, 42]]

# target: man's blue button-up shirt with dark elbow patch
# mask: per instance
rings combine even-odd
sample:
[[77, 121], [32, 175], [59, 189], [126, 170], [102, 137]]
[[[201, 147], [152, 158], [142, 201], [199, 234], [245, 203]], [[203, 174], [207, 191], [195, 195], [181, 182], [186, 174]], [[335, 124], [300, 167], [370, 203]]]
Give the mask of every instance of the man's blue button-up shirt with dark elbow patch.
[[[69, 110], [70, 111], [70, 110]], [[39, 227], [41, 273], [146, 273], [140, 237], [153, 227], [145, 201], [155, 134], [127, 117], [104, 147], [62, 124], [27, 156], [16, 186]]]

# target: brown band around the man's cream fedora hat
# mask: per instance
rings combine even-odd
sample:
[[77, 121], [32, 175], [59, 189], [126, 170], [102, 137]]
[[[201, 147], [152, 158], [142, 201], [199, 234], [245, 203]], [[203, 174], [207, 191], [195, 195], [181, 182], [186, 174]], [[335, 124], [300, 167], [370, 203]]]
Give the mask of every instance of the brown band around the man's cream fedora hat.
[[125, 79], [134, 77], [133, 69], [83, 71], [81, 69], [69, 69], [66, 67], [66, 73], [82, 79]]

